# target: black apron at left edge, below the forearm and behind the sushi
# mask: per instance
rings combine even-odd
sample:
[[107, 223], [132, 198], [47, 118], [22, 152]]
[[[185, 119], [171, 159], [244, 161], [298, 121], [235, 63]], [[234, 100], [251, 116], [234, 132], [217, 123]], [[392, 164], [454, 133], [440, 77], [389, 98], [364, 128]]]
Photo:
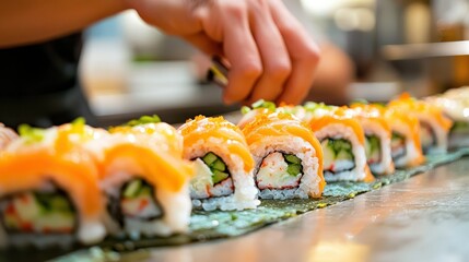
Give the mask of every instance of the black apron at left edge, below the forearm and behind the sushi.
[[79, 85], [81, 33], [0, 49], [0, 122], [50, 127], [84, 117], [95, 124]]

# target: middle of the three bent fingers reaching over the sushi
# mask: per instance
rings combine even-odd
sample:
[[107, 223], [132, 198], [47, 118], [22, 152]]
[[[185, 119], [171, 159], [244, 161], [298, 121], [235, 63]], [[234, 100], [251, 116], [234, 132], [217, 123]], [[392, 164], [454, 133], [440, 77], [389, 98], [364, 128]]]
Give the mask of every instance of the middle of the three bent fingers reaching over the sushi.
[[291, 72], [290, 57], [265, 1], [253, 1], [253, 35], [262, 60], [262, 75], [254, 86], [247, 104], [258, 99], [275, 100]]

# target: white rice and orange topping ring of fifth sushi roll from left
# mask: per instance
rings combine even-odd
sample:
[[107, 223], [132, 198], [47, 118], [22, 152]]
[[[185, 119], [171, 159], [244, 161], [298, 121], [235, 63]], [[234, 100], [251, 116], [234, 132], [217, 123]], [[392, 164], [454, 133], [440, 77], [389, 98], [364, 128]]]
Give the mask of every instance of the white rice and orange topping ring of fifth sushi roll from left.
[[325, 139], [344, 139], [351, 142], [352, 144], [352, 153], [355, 159], [355, 168], [348, 171], [342, 171], [339, 174], [331, 174], [325, 170], [325, 179], [327, 182], [333, 181], [363, 181], [366, 177], [365, 168], [366, 168], [366, 154], [365, 147], [360, 143], [356, 133], [352, 128], [341, 124], [341, 123], [332, 123], [324, 127], [323, 129], [315, 132], [316, 138], [319, 141]]

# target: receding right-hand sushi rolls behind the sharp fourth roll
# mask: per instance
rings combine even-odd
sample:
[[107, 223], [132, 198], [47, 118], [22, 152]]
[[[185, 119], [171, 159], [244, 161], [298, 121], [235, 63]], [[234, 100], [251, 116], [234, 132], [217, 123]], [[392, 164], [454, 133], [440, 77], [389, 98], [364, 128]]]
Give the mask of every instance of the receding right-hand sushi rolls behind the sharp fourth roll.
[[387, 105], [354, 103], [350, 107], [306, 103], [275, 106], [258, 102], [245, 107], [239, 124], [256, 116], [286, 112], [305, 123], [319, 140], [324, 177], [333, 181], [371, 181], [395, 168], [421, 165], [425, 154], [445, 153], [453, 121], [442, 109], [402, 94]]

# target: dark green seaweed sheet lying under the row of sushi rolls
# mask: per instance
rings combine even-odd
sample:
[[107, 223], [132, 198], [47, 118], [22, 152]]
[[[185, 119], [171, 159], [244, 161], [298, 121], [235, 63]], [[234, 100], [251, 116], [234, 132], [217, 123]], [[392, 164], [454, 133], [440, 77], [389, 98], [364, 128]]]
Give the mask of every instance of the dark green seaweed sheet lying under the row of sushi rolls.
[[[132, 252], [138, 249], [177, 246], [189, 242], [236, 237], [316, 209], [324, 209], [341, 201], [353, 199], [355, 195], [365, 192], [378, 190], [384, 186], [403, 181], [417, 174], [427, 171], [438, 165], [457, 160], [467, 155], [469, 155], [469, 148], [460, 148], [452, 153], [439, 155], [427, 155], [424, 165], [406, 170], [397, 170], [390, 176], [377, 177], [375, 181], [370, 183], [328, 183], [325, 188], [323, 198], [318, 200], [262, 200], [262, 203], [256, 210], [212, 212], [194, 211], [190, 219], [190, 233], [186, 235], [176, 235], [168, 238], [143, 238], [139, 240], [119, 240], [108, 238], [96, 247], [75, 247], [73, 250], [79, 251], [74, 252], [72, 252], [73, 250], [48, 250], [47, 252], [37, 251], [38, 255], [35, 258], [38, 260], [57, 258], [54, 261], [60, 262], [119, 261], [122, 260], [120, 254], [125, 253], [127, 259], [124, 260], [132, 261], [137, 259], [132, 258], [132, 255], [141, 255], [141, 252]], [[0, 254], [0, 261], [31, 261], [31, 255], [34, 254], [31, 252], [22, 252], [22, 250], [11, 250]]]

